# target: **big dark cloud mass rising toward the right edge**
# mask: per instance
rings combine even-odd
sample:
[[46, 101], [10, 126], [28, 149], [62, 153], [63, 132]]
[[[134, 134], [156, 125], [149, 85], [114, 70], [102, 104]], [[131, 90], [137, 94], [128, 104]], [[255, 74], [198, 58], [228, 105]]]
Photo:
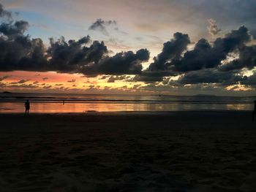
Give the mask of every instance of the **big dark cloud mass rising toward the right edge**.
[[[183, 43], [178, 43], [179, 39], [182, 39]], [[246, 45], [251, 39], [249, 30], [241, 26], [226, 34], [225, 37], [217, 38], [212, 44], [206, 39], [200, 39], [192, 50], [186, 51], [189, 37], [184, 34], [175, 34], [170, 42], [164, 44], [162, 53], [154, 58], [154, 63], [150, 64], [148, 69], [136, 76], [134, 80], [159, 82], [163, 80], [163, 77], [183, 74], [179, 81], [187, 84], [189, 80], [191, 83], [227, 82], [228, 78], [230, 83], [236, 82], [236, 73], [239, 70], [253, 69], [256, 66], [255, 46]], [[238, 54], [239, 58], [222, 64], [230, 53]], [[231, 70], [233, 72], [229, 72]], [[214, 74], [216, 76], [212, 77]], [[222, 77], [222, 75], [227, 76]]]

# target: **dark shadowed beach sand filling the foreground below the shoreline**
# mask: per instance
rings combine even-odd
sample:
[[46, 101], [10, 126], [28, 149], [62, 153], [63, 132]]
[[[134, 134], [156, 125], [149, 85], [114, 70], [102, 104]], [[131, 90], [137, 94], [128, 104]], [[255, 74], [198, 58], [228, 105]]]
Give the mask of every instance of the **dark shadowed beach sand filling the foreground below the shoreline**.
[[256, 191], [249, 112], [0, 115], [0, 191]]

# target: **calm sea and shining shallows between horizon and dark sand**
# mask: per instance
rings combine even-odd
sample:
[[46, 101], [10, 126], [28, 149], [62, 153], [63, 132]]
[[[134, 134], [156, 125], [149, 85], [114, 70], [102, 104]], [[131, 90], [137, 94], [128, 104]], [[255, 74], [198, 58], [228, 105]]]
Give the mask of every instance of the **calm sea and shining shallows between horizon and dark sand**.
[[23, 112], [26, 99], [31, 112], [61, 113], [253, 110], [256, 97], [0, 93], [0, 113]]

